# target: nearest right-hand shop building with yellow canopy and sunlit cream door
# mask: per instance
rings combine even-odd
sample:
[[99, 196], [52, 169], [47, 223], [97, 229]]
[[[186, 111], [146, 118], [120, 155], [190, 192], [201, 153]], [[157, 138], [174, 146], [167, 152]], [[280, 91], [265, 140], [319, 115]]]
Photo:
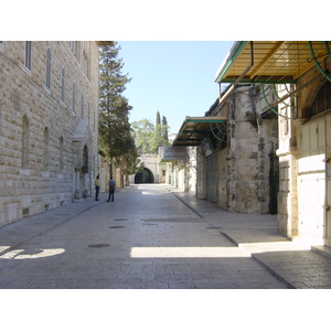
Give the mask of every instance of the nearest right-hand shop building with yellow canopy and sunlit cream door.
[[217, 83], [255, 84], [278, 117], [278, 228], [331, 246], [331, 42], [236, 42]]

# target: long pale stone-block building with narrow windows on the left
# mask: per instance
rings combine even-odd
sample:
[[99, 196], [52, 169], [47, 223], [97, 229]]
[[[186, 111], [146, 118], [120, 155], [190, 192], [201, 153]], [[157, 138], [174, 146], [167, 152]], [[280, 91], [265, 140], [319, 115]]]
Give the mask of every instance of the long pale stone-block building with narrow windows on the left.
[[98, 42], [0, 42], [0, 226], [90, 196]]

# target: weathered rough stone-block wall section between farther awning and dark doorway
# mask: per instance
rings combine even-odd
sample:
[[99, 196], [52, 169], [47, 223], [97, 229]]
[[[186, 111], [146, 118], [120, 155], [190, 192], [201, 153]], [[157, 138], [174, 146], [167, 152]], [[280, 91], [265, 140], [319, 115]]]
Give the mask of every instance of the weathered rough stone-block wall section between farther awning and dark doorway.
[[[269, 154], [278, 140], [277, 120], [258, 120], [264, 111], [252, 86], [237, 88], [235, 117], [229, 127], [228, 210], [239, 213], [269, 212]], [[257, 96], [256, 96], [257, 95]]]

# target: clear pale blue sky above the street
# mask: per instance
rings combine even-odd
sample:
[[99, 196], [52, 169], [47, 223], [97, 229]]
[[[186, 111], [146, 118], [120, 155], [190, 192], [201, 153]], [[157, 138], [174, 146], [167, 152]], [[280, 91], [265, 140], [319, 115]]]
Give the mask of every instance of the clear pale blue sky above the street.
[[130, 121], [153, 124], [159, 110], [170, 132], [185, 116], [204, 116], [218, 97], [216, 72], [233, 41], [119, 41], [122, 74], [132, 81], [124, 96], [134, 107]]

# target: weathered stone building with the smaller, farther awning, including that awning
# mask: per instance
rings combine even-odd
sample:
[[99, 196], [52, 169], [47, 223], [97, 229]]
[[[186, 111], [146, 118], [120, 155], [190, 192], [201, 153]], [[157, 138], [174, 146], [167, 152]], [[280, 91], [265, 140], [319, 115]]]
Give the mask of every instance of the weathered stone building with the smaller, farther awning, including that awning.
[[270, 172], [278, 180], [278, 130], [277, 117], [268, 109], [256, 87], [247, 85], [225, 90], [204, 117], [186, 117], [173, 142], [186, 146], [188, 154], [195, 146], [196, 154], [189, 158], [191, 163], [195, 159], [195, 167], [185, 161], [185, 168], [186, 181], [195, 170], [196, 186], [186, 191], [195, 189], [197, 197], [233, 212], [276, 213]]

